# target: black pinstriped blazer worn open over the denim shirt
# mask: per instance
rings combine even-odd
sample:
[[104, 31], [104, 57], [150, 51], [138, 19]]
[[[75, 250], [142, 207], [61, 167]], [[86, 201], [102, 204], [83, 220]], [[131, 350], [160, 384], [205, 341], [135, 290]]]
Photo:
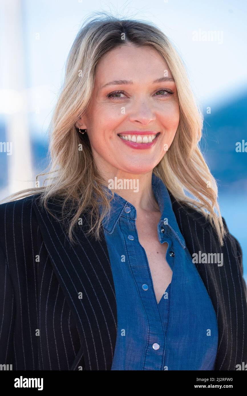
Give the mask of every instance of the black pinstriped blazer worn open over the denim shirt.
[[[88, 221], [82, 216], [78, 244], [71, 245], [38, 198], [0, 205], [0, 364], [12, 364], [13, 370], [110, 370], [117, 306], [103, 229], [101, 242], [86, 237]], [[222, 267], [196, 268], [218, 321], [215, 370], [235, 370], [247, 363], [241, 247], [229, 231], [220, 247], [201, 214], [170, 198], [191, 255], [223, 253]], [[52, 200], [49, 208], [61, 213]]]

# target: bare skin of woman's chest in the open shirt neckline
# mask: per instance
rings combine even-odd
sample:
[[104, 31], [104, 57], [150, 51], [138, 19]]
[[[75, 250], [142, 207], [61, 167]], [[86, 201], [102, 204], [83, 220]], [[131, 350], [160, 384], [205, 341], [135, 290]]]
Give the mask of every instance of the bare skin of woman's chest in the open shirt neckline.
[[146, 252], [157, 303], [172, 280], [172, 270], [165, 258], [168, 244], [167, 242], [161, 244], [158, 239], [159, 219], [159, 212], [149, 219], [146, 218], [145, 221], [136, 219], [138, 240]]

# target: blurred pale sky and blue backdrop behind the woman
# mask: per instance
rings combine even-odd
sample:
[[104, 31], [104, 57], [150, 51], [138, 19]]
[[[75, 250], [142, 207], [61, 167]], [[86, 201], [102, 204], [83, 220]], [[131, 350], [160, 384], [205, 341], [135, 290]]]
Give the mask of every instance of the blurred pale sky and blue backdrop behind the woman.
[[[48, 165], [47, 129], [65, 61], [92, 11], [152, 21], [180, 53], [204, 114], [201, 148], [247, 280], [247, 152], [236, 152], [237, 142], [247, 142], [245, 0], [0, 0], [0, 142], [13, 143], [12, 155], [0, 152], [0, 199], [35, 186]], [[200, 40], [210, 31], [214, 40]]]

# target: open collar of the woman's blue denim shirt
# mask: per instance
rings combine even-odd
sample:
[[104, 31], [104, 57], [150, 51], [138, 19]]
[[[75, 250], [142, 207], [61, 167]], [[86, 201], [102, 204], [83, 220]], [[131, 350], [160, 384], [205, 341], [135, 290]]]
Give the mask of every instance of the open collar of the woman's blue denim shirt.
[[[167, 187], [154, 173], [152, 173], [152, 188], [161, 211], [161, 217], [157, 225], [159, 241], [161, 242], [167, 233], [172, 232], [183, 249], [185, 249], [184, 237], [178, 227]], [[114, 193], [114, 198], [111, 200], [110, 205], [111, 210], [109, 217], [105, 217], [102, 221], [104, 230], [109, 234], [113, 233], [121, 216], [126, 219], [136, 220], [136, 208], [116, 192]], [[101, 207], [99, 209], [101, 211]], [[162, 227], [163, 232], [161, 232]]]

